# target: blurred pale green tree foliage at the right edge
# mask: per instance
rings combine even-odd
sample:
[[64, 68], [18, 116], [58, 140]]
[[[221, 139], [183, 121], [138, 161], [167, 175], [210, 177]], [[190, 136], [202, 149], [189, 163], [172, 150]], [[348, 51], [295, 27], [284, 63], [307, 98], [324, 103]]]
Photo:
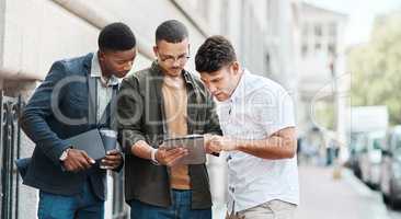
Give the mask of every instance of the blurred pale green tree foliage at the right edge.
[[376, 19], [370, 42], [348, 54], [351, 103], [387, 105], [390, 123], [401, 124], [401, 12]]

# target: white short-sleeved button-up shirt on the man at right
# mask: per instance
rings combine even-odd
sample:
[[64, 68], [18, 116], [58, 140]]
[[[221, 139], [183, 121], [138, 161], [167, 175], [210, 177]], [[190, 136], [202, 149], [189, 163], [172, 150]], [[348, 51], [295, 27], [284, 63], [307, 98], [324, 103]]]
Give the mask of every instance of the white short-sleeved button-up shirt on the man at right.
[[[295, 126], [293, 100], [276, 82], [244, 70], [228, 101], [217, 104], [225, 136], [260, 140]], [[279, 199], [299, 204], [297, 159], [268, 160], [241, 151], [228, 162], [228, 210], [241, 211]]]

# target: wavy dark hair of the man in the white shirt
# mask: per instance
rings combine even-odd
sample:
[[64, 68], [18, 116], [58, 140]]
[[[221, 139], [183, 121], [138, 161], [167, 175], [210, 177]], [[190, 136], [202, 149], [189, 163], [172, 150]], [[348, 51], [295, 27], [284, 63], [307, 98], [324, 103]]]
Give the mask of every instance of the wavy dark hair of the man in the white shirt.
[[237, 61], [237, 55], [231, 43], [218, 35], [208, 37], [195, 56], [198, 72], [214, 72], [233, 61]]

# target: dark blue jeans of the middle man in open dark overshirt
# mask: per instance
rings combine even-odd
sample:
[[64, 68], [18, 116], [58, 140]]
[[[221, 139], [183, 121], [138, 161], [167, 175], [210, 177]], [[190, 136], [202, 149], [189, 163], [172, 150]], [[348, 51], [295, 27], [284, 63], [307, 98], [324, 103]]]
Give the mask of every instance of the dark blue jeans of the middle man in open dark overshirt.
[[173, 203], [163, 208], [131, 200], [130, 219], [211, 219], [211, 209], [191, 209], [191, 191], [172, 192]]

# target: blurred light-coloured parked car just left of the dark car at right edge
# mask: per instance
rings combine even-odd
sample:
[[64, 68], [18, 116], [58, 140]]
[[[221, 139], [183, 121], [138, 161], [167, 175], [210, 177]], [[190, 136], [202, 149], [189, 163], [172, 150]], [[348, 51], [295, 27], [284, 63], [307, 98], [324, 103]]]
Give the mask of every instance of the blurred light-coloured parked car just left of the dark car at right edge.
[[381, 177], [381, 149], [386, 131], [373, 131], [366, 135], [366, 147], [360, 154], [362, 181], [374, 189], [379, 188]]

